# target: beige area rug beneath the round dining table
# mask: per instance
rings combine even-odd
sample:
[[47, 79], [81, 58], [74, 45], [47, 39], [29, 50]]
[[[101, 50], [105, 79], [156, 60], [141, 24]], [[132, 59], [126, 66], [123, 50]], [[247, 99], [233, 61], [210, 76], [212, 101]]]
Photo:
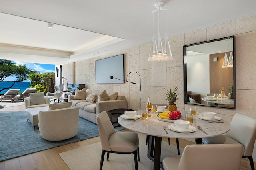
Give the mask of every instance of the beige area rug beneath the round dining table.
[[[147, 157], [146, 135], [138, 133], [140, 162], [139, 170], [153, 169], [153, 162]], [[182, 154], [183, 148], [180, 148]], [[59, 154], [71, 170], [98, 170], [100, 168], [101, 144], [100, 142], [81, 147], [78, 149], [62, 152]], [[178, 155], [176, 145], [168, 145], [162, 141], [161, 161], [166, 156]], [[134, 170], [133, 154], [114, 154], [110, 153], [109, 160], [106, 160], [105, 154], [103, 169], [104, 170]]]

